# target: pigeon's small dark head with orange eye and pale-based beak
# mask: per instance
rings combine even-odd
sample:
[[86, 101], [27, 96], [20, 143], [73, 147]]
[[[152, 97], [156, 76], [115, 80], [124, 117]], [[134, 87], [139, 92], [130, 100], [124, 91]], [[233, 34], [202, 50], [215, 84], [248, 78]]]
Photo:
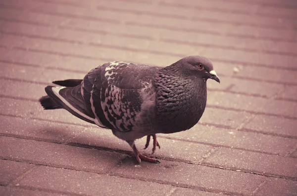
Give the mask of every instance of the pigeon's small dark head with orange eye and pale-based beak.
[[214, 79], [220, 83], [220, 79], [213, 70], [211, 61], [203, 56], [188, 56], [180, 60], [183, 68], [196, 76], [205, 79]]

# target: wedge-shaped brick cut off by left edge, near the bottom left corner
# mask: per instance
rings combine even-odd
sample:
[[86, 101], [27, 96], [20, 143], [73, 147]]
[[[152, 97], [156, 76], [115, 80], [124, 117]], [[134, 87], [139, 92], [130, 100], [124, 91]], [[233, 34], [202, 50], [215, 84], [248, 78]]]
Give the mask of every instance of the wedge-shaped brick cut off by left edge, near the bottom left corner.
[[0, 185], [7, 186], [32, 167], [34, 164], [0, 159]]

